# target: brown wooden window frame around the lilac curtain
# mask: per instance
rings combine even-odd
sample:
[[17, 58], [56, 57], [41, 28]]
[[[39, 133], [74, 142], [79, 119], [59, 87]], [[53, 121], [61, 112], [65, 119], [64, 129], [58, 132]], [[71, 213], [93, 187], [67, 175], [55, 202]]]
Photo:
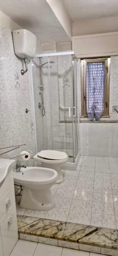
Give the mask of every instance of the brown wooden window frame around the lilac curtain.
[[104, 91], [104, 112], [101, 117], [109, 117], [109, 79], [110, 79], [110, 57], [81, 59], [81, 117], [88, 117], [86, 112], [86, 66], [90, 62], [105, 63], [105, 91]]

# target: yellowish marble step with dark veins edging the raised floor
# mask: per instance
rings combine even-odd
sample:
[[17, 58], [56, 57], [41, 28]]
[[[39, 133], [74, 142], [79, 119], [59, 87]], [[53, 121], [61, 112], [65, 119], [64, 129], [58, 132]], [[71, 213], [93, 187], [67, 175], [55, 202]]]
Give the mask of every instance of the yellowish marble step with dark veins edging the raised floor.
[[17, 215], [19, 239], [118, 256], [118, 230]]

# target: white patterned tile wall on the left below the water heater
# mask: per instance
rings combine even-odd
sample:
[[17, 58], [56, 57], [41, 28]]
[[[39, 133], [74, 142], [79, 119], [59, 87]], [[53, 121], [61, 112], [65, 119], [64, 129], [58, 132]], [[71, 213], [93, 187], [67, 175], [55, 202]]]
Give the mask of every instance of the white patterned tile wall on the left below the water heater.
[[1, 147], [27, 144], [4, 157], [15, 156], [22, 150], [31, 150], [35, 154], [30, 68], [21, 75], [22, 61], [14, 54], [11, 30], [1, 25], [0, 35], [0, 144]]

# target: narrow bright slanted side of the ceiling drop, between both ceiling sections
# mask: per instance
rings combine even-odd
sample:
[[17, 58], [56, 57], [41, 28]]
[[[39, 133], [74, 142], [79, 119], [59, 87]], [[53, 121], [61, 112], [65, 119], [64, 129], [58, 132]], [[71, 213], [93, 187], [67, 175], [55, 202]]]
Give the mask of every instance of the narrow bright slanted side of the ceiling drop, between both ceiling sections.
[[72, 22], [61, 0], [46, 0], [60, 24], [64, 28], [70, 40], [72, 40]]

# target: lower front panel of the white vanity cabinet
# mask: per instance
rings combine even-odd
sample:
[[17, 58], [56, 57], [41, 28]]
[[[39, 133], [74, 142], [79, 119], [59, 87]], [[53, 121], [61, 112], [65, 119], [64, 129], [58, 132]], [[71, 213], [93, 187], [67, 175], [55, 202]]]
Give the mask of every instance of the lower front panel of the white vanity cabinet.
[[9, 213], [2, 219], [0, 226], [4, 256], [8, 256], [18, 240], [15, 204], [12, 205]]

